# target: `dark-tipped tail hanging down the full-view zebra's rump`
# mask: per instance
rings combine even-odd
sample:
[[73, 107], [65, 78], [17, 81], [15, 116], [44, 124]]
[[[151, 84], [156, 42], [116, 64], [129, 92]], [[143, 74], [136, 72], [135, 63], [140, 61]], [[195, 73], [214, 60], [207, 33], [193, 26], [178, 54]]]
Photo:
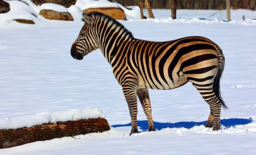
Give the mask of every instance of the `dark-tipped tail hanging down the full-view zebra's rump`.
[[219, 59], [219, 67], [218, 67], [217, 75], [214, 79], [214, 88], [213, 89], [214, 89], [214, 93], [216, 94], [218, 99], [220, 99], [220, 103], [222, 105], [222, 108], [223, 109], [228, 109], [228, 107], [226, 106], [226, 104], [223, 101], [222, 96], [220, 94], [220, 79], [222, 77], [222, 72], [224, 70], [225, 58], [224, 58], [224, 55], [222, 54], [222, 50], [218, 46], [217, 46], [217, 53], [218, 53], [218, 59]]

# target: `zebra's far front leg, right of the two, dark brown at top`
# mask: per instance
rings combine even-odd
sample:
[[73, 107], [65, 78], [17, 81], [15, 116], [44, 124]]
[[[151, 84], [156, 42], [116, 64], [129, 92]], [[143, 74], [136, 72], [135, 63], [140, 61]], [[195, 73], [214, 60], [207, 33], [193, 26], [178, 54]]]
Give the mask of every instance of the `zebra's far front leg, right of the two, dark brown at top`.
[[148, 94], [148, 89], [137, 89], [137, 96], [143, 107], [143, 111], [148, 119], [148, 132], [155, 130], [155, 126], [152, 119], [152, 109], [150, 104], [150, 95]]

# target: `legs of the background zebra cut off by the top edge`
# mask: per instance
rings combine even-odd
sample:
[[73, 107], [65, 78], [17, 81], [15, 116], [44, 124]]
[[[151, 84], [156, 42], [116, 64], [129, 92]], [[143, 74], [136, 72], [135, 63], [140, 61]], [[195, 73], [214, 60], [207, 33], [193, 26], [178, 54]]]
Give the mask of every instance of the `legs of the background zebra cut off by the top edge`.
[[[176, 19], [176, 12], [177, 12], [177, 6], [178, 6], [178, 0], [169, 0], [170, 9], [171, 9], [171, 15], [172, 19]], [[143, 7], [146, 6], [146, 9], [148, 10], [148, 15], [150, 15], [150, 18], [155, 18], [154, 13], [152, 12], [152, 0], [137, 0], [137, 5], [139, 6], [139, 11], [141, 14], [141, 19], [147, 19], [143, 15]]]

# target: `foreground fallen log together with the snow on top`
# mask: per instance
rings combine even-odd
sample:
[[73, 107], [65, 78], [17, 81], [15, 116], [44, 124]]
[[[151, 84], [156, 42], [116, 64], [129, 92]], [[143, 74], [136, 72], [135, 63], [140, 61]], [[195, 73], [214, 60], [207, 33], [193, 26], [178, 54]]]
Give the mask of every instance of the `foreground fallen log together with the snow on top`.
[[97, 108], [6, 117], [0, 119], [0, 148], [107, 130], [108, 121]]

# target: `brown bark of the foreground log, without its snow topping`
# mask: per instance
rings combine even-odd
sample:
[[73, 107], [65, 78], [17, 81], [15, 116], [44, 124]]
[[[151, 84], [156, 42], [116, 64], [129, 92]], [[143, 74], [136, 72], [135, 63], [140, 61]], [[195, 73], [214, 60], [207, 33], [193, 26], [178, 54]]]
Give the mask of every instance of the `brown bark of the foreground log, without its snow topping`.
[[105, 132], [107, 130], [110, 130], [108, 121], [100, 117], [75, 121], [58, 121], [57, 123], [43, 123], [32, 127], [0, 130], [0, 148], [11, 148], [36, 141]]

